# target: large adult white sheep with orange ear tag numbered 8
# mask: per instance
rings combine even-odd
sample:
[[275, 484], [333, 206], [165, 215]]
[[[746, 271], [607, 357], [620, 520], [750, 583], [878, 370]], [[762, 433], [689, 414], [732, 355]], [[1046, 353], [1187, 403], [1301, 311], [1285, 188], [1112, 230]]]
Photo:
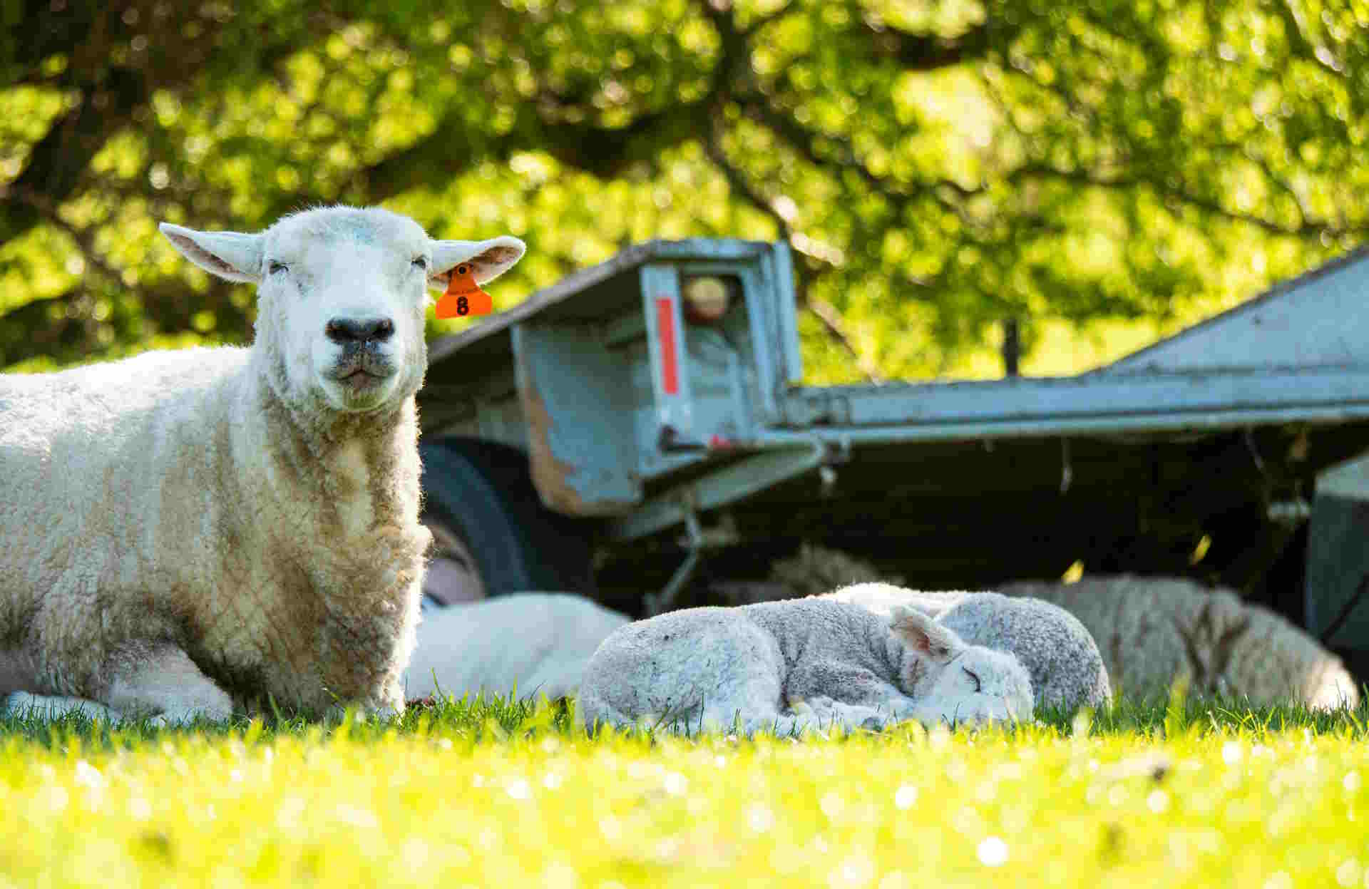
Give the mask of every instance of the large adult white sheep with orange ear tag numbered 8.
[[352, 207], [162, 231], [257, 284], [255, 342], [0, 377], [0, 694], [163, 719], [267, 696], [402, 710], [427, 288], [457, 266], [489, 281], [523, 242]]

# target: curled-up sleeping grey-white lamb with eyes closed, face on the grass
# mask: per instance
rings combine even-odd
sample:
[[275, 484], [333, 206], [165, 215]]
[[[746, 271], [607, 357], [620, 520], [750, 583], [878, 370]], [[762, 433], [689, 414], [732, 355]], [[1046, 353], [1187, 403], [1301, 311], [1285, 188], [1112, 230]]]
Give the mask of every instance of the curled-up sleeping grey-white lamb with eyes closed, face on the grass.
[[619, 627], [580, 682], [576, 721], [773, 730], [1028, 721], [1031, 679], [913, 608], [823, 599], [687, 608]]

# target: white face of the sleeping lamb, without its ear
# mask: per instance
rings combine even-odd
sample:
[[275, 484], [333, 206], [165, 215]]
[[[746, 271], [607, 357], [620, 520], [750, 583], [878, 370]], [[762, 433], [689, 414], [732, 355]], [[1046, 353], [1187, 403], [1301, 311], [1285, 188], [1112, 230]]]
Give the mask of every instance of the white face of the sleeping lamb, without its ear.
[[1017, 659], [967, 645], [936, 674], [925, 699], [951, 722], [1031, 721], [1031, 677]]

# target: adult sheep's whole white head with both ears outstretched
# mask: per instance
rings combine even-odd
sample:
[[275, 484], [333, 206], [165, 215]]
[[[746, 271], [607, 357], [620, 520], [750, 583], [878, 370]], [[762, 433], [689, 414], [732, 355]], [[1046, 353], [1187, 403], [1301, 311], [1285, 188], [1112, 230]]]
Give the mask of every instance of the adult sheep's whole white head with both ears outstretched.
[[257, 285], [256, 348], [278, 395], [338, 412], [375, 411], [418, 392], [428, 288], [445, 288], [459, 264], [483, 284], [524, 251], [509, 236], [437, 241], [375, 207], [308, 210], [257, 234], [160, 227], [201, 268]]

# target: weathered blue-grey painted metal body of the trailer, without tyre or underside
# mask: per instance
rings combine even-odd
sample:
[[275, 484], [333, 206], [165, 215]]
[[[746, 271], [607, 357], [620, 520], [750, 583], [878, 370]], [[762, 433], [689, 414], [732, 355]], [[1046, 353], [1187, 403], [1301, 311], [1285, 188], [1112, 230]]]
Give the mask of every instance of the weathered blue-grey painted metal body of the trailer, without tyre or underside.
[[[742, 304], [719, 325], [686, 323], [686, 274], [735, 278]], [[549, 507], [616, 516], [611, 538], [631, 540], [682, 522], [684, 503], [735, 503], [816, 471], [831, 451], [1369, 419], [1366, 288], [1357, 253], [1079, 377], [804, 388], [787, 245], [652, 241], [434, 344], [423, 416], [427, 431], [526, 442]], [[676, 333], [675, 393], [658, 299]]]

